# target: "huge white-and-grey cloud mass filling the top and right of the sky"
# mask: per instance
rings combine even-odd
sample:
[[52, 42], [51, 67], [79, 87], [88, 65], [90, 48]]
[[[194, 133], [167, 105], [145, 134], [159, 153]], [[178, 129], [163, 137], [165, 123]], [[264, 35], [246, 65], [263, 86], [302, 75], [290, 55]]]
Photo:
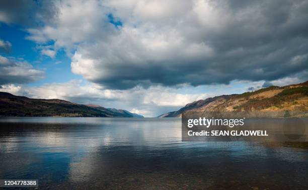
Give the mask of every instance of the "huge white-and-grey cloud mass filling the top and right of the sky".
[[72, 72], [108, 89], [271, 81], [307, 71], [307, 1], [54, 6], [57, 17], [29, 29], [28, 39], [75, 50]]

